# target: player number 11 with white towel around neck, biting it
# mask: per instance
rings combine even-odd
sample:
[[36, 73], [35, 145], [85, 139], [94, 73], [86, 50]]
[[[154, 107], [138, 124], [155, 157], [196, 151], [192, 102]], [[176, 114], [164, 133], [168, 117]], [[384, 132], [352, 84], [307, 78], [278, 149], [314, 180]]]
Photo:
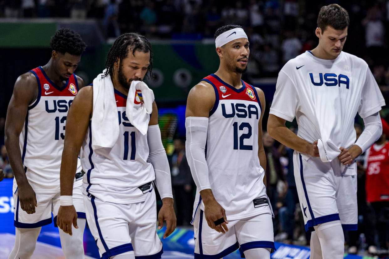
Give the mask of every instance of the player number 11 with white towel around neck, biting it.
[[[76, 172], [77, 150], [82, 146], [86, 216], [100, 256], [158, 259], [163, 250], [156, 233], [153, 181], [163, 202], [158, 229], [166, 220], [164, 238], [175, 229], [176, 219], [169, 163], [162, 146], [154, 95], [147, 86], [142, 90], [134, 88], [138, 87], [135, 81], [143, 80], [148, 71], [151, 74], [149, 41], [136, 33], [121, 35], [109, 50], [105, 67], [106, 70], [93, 80], [93, 86], [79, 92], [69, 111], [66, 130], [72, 134], [66, 136], [62, 155], [61, 195], [72, 198], [71, 181]], [[135, 125], [141, 114], [128, 108], [131, 105], [140, 109], [147, 107], [148, 94], [152, 113]], [[112, 113], [107, 108], [111, 104]], [[98, 111], [101, 106], [104, 110]], [[94, 123], [102, 113], [102, 127], [97, 128]], [[104, 124], [112, 130], [106, 130]], [[110, 146], [99, 144], [107, 139], [112, 139]], [[60, 207], [58, 226], [66, 233], [72, 234], [72, 223], [76, 226], [76, 219], [71, 203]]]

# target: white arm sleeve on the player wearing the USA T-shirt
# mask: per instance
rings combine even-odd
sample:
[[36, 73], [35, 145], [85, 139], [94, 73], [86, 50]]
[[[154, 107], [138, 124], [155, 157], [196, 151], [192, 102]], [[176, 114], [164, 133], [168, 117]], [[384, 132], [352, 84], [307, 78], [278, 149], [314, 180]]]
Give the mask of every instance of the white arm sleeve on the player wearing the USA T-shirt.
[[355, 143], [362, 149], [362, 153], [370, 148], [382, 135], [382, 122], [379, 113], [367, 116], [363, 119], [363, 122], [365, 128]]

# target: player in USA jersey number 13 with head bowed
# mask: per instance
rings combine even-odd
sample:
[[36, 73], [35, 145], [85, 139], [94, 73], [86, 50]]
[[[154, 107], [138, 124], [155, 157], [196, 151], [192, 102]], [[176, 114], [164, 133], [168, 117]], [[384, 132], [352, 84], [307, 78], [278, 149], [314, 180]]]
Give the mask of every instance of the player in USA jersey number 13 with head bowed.
[[[77, 91], [84, 86], [73, 72], [86, 45], [79, 34], [59, 29], [51, 38], [51, 59], [16, 80], [5, 122], [5, 145], [15, 175], [16, 238], [10, 259], [30, 258], [42, 226], [54, 224], [60, 207], [60, 165], [65, 121]], [[73, 134], [73, 132], [70, 132]], [[60, 231], [66, 258], [84, 258], [85, 210], [81, 164], [72, 179], [79, 229], [70, 237]]]

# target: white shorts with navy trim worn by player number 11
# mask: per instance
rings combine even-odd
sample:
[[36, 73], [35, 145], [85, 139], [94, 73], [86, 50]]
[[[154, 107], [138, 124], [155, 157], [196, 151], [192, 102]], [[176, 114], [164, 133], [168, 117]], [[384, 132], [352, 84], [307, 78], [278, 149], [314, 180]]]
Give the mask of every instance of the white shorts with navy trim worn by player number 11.
[[154, 188], [144, 195], [144, 202], [130, 204], [102, 202], [84, 195], [86, 219], [102, 259], [132, 251], [136, 257], [161, 258]]

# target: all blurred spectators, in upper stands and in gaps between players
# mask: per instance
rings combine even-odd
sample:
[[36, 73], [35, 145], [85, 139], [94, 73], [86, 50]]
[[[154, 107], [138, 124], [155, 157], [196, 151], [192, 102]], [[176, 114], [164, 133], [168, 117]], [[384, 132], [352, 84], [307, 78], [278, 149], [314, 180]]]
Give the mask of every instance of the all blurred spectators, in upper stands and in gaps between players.
[[[0, 0], [0, 16], [6, 18], [97, 19], [107, 39], [137, 31], [150, 39], [204, 40], [213, 38], [217, 28], [240, 24], [250, 40], [248, 80], [277, 77], [289, 60], [317, 44], [314, 31], [319, 9], [338, 3], [350, 15], [349, 36], [343, 50], [363, 58], [377, 80], [386, 103], [389, 102], [389, 0], [381, 1], [308, 1], [308, 0]], [[270, 106], [267, 104], [266, 106]], [[387, 109], [381, 116], [389, 119]], [[4, 122], [0, 118], [0, 168], [13, 177], [4, 146]], [[356, 119], [359, 134], [363, 126]], [[289, 125], [297, 130], [295, 123]], [[264, 125], [266, 129], [266, 125]], [[389, 135], [389, 133], [388, 133]], [[383, 135], [386, 142], [387, 135]], [[379, 144], [379, 145], [382, 145]], [[275, 241], [308, 244], [293, 176], [293, 150], [277, 143], [263, 132], [267, 156], [267, 192], [275, 212]], [[168, 152], [172, 186], [177, 208], [177, 224], [189, 225], [193, 210], [195, 184], [185, 156], [185, 136], [174, 140]], [[350, 253], [368, 250], [387, 253], [389, 205], [375, 210], [366, 202], [364, 155], [358, 158], [358, 231], [345, 233]], [[386, 177], [389, 177], [386, 174]], [[385, 180], [386, 181], [386, 180]], [[389, 180], [387, 180], [389, 181]], [[389, 198], [388, 198], [389, 199]]]

